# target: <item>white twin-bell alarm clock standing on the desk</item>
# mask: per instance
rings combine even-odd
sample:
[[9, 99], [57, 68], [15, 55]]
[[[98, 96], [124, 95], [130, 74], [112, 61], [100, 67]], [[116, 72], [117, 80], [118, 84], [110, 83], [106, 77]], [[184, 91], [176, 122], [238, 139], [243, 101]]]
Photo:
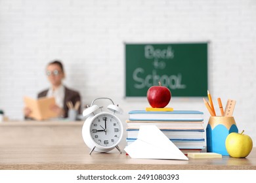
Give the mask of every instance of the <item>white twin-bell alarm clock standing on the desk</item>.
[[107, 97], [96, 98], [91, 106], [83, 111], [83, 116], [86, 117], [82, 129], [83, 141], [91, 148], [90, 154], [94, 150], [96, 152], [108, 152], [114, 148], [117, 148], [121, 153], [117, 144], [123, 137], [123, 125], [115, 113], [122, 114], [123, 110], [118, 105], [114, 105], [112, 101], [112, 104], [107, 107], [112, 112], [104, 112], [102, 107], [93, 105], [98, 99], [112, 101]]

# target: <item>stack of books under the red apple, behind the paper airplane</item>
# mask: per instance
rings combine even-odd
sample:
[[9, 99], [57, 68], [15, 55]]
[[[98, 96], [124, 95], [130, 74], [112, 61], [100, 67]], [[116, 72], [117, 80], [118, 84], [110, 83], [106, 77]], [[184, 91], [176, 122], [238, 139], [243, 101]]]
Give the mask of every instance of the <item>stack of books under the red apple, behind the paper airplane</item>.
[[140, 125], [156, 125], [184, 154], [205, 148], [203, 112], [131, 110], [127, 122], [127, 145], [137, 140]]

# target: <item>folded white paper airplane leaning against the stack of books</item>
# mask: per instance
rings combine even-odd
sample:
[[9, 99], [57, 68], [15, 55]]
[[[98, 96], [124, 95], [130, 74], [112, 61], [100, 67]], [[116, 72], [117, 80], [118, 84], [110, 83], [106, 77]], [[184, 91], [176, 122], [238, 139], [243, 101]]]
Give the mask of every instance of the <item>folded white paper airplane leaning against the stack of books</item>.
[[140, 125], [137, 140], [127, 146], [125, 152], [131, 158], [188, 160], [156, 125]]

